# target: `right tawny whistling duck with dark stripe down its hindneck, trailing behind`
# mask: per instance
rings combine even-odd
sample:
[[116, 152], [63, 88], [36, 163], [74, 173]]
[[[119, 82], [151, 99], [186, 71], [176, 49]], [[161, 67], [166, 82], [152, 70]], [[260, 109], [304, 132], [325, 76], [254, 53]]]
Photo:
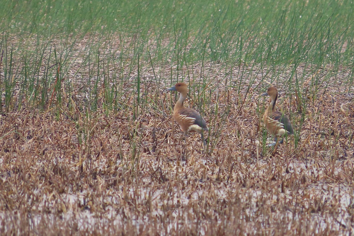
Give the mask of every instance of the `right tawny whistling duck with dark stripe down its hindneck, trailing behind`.
[[284, 135], [294, 134], [294, 130], [292, 129], [289, 118], [275, 109], [276, 100], [278, 99], [278, 90], [276, 87], [270, 87], [266, 93], [261, 95], [269, 96], [272, 99], [269, 107], [265, 110], [263, 115], [263, 123], [265, 127], [267, 127], [268, 131], [275, 138], [275, 143], [269, 144], [269, 146], [275, 145], [279, 137], [282, 138], [279, 143], [283, 143]]

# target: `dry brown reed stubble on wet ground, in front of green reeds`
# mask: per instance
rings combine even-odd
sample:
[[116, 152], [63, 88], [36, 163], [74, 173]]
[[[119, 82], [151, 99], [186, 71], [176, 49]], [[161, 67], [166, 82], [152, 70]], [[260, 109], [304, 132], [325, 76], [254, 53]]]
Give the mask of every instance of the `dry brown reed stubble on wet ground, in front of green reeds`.
[[[259, 98], [269, 86], [266, 67], [182, 68], [191, 88], [198, 75], [210, 78], [205, 91], [192, 88], [188, 99], [193, 108], [204, 104], [208, 148], [192, 134], [182, 161], [183, 133], [171, 112], [176, 97], [164, 92], [170, 84], [156, 84], [152, 69], [142, 68], [145, 103], [136, 110], [135, 68], [116, 85], [125, 94], [116, 98], [120, 108], [107, 111], [99, 99], [97, 111], [90, 111], [82, 85], [88, 76], [78, 79], [78, 70], [66, 78], [75, 90], [64, 104], [0, 115], [1, 234], [353, 233], [354, 94], [336, 82], [346, 76], [341, 72], [314, 93], [311, 79], [319, 74], [297, 68], [308, 75], [300, 85], [306, 108], [299, 94], [287, 94], [281, 81], [273, 84], [300, 138], [296, 147], [293, 137], [274, 149], [263, 144], [259, 120], [268, 104]], [[169, 77], [176, 68], [154, 70]], [[279, 77], [286, 76], [284, 70]], [[206, 99], [193, 99], [202, 92]]]

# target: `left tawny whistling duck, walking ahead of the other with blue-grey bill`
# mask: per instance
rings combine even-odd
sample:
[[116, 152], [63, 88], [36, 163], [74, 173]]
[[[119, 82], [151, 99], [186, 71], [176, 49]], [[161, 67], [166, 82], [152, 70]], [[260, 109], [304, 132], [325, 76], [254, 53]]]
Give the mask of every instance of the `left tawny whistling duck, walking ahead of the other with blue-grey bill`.
[[195, 131], [200, 133], [203, 144], [206, 145], [203, 138], [203, 131], [209, 131], [205, 120], [196, 110], [184, 107], [183, 102], [185, 97], [187, 97], [187, 85], [184, 83], [177, 83], [172, 88], [167, 88], [167, 91], [177, 91], [179, 93], [179, 99], [173, 108], [173, 118], [176, 120], [178, 125], [182, 127], [184, 133], [184, 144], [187, 143], [188, 133]]

